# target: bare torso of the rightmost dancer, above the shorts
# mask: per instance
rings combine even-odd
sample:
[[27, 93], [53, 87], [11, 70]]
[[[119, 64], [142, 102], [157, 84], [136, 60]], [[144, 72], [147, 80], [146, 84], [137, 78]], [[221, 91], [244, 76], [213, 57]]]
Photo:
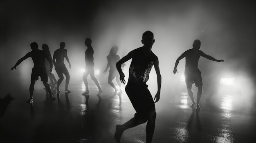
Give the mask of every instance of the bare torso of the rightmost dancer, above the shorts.
[[201, 56], [200, 50], [195, 49], [189, 49], [186, 51], [186, 65], [185, 65], [185, 71], [193, 72], [195, 70], [198, 70], [198, 61]]

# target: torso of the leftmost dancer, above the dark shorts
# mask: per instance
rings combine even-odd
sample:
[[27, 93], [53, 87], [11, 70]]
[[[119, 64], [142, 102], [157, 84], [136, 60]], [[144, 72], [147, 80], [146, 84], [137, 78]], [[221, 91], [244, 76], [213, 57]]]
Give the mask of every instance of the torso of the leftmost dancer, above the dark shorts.
[[35, 50], [28, 53], [34, 62], [34, 68], [45, 69], [45, 57], [47, 56], [42, 50]]

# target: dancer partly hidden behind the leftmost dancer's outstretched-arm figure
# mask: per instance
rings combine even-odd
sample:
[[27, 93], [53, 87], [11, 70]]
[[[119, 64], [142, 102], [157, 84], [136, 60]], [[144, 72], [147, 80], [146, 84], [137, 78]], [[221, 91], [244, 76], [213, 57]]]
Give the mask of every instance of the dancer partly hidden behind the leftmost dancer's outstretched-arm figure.
[[[44, 52], [51, 58], [51, 60], [52, 60], [52, 55], [51, 55], [51, 53], [50, 53], [49, 46], [48, 46], [47, 44], [43, 44], [43, 45], [42, 45], [42, 49], [43, 49], [43, 51], [44, 51]], [[49, 77], [49, 79], [50, 79], [50, 81], [51, 81], [51, 82], [49, 83], [49, 85], [57, 84], [57, 80], [56, 80], [54, 74], [48, 71], [48, 70], [51, 69], [51, 67], [50, 67], [49, 62], [46, 61], [46, 60], [45, 60], [45, 67], [46, 67], [46, 71], [47, 71], [47, 77]]]

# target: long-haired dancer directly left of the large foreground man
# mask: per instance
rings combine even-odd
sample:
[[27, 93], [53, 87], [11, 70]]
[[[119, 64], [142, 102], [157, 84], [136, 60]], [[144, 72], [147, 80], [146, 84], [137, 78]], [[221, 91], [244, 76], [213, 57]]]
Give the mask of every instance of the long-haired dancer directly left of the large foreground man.
[[[119, 92], [118, 95], [121, 94], [122, 90], [121, 90], [121, 82], [119, 79], [117, 79], [117, 77], [119, 76], [117, 68], [116, 68], [116, 64], [117, 62], [120, 60], [119, 55], [117, 55], [117, 51], [118, 51], [118, 46], [113, 46], [109, 52], [109, 55], [107, 56], [107, 60], [108, 60], [108, 64], [106, 69], [104, 70], [103, 73], [107, 73], [108, 67], [110, 67], [109, 70], [109, 75], [108, 75], [108, 84], [110, 84], [110, 86], [112, 86], [115, 89], [115, 93], [114, 95], [117, 94], [118, 89], [116, 88], [116, 86], [114, 85], [114, 83], [112, 82], [113, 79], [116, 78], [117, 84], [119, 86]], [[122, 66], [124, 67], [125, 64], [122, 64]]]

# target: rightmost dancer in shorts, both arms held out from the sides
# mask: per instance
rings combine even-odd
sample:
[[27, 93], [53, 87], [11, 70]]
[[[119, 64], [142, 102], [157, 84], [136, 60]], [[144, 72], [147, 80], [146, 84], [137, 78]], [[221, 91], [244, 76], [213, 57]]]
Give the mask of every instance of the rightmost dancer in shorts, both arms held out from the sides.
[[180, 57], [177, 58], [175, 62], [174, 70], [173, 70], [173, 74], [176, 74], [179, 61], [184, 57], [186, 57], [185, 82], [186, 82], [186, 87], [189, 93], [189, 97], [193, 102], [191, 105], [191, 108], [193, 108], [195, 105], [195, 100], [194, 100], [193, 91], [192, 91], [192, 84], [195, 83], [195, 86], [198, 88], [196, 110], [200, 110], [199, 101], [203, 92], [203, 82], [201, 77], [201, 71], [198, 69], [198, 60], [200, 56], [210, 59], [212, 61], [224, 62], [224, 60], [217, 60], [209, 55], [206, 55], [204, 52], [199, 50], [200, 46], [201, 46], [200, 40], [194, 40], [193, 48], [185, 51], [184, 53], [182, 53], [182, 55], [180, 55]]

